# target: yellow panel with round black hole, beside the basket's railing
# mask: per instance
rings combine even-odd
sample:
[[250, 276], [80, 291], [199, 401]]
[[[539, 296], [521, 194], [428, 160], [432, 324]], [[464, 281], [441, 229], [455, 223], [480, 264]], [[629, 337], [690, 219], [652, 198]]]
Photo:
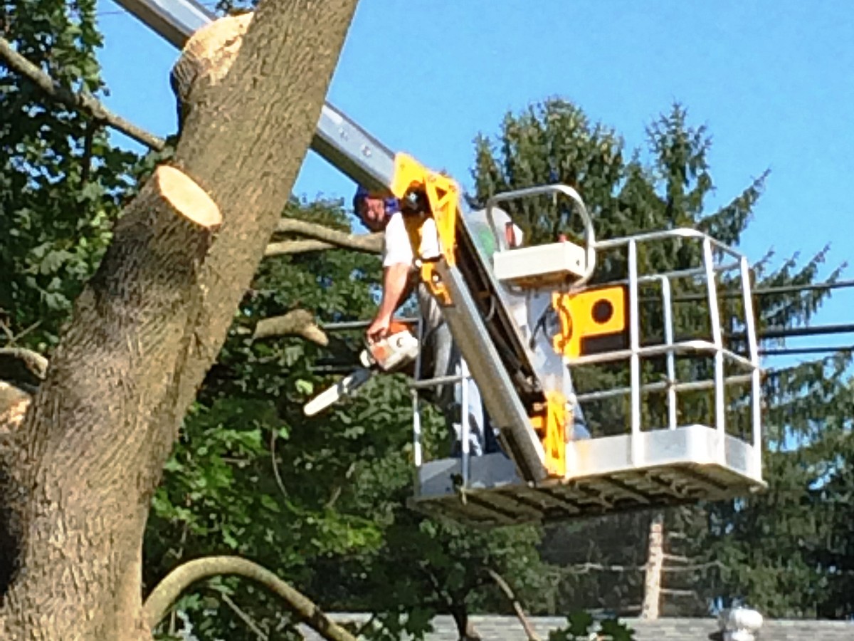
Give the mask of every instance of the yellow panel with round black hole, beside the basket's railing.
[[626, 330], [626, 288], [601, 287], [577, 293], [555, 292], [552, 304], [560, 319], [554, 349], [568, 358], [582, 355], [584, 338], [615, 335]]

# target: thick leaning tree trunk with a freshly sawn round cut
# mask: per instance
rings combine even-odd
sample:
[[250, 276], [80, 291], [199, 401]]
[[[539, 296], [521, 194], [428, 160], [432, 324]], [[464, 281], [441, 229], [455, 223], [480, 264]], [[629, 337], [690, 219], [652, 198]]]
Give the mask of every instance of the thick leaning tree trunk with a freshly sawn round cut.
[[[290, 195], [355, 0], [262, 0], [191, 92], [23, 423], [0, 431], [0, 638], [150, 638], [141, 550], [187, 406]], [[206, 81], [207, 80], [207, 81]]]

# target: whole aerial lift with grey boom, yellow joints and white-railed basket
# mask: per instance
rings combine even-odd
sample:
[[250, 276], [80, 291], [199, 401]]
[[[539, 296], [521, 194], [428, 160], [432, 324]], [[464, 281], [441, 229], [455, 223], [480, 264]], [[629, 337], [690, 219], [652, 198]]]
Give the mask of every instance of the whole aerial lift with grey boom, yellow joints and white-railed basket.
[[[194, 0], [118, 2], [176, 47], [214, 19]], [[329, 103], [311, 146], [357, 183], [397, 197], [413, 239], [430, 221], [440, 241], [442, 255], [419, 257], [416, 268], [465, 371], [412, 384], [414, 508], [500, 526], [763, 488], [761, 372], [744, 256], [693, 229], [597, 239], [582, 198], [566, 185], [500, 194], [469, 212], [453, 179], [387, 149]], [[580, 242], [513, 246], [500, 205], [544, 197], [566, 199], [581, 221]], [[663, 250], [694, 263], [657, 273], [646, 258]], [[609, 266], [606, 282], [599, 264]], [[721, 309], [722, 284], [739, 290], [732, 309]], [[676, 336], [684, 316], [674, 311], [676, 291], [696, 301], [687, 313], [703, 336]], [[471, 456], [464, 420], [461, 455], [428, 460], [418, 392], [469, 376], [501, 450]], [[590, 438], [573, 427], [579, 405]]]

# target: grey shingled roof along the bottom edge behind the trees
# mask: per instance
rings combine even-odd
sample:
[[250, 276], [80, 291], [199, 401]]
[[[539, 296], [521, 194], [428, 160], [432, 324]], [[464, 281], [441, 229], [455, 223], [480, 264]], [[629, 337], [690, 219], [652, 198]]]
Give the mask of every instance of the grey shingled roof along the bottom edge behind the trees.
[[[336, 621], [365, 621], [366, 615], [330, 615]], [[566, 626], [566, 619], [559, 616], [529, 617], [540, 638], [547, 639], [548, 632]], [[658, 620], [622, 619], [635, 630], [637, 641], [706, 641], [719, 639], [717, 619]], [[527, 641], [522, 626], [514, 616], [472, 615], [471, 622], [483, 641]], [[307, 641], [319, 639], [317, 632], [303, 627]], [[433, 620], [433, 632], [426, 635], [427, 641], [457, 641], [457, 629], [450, 616], [437, 616]], [[851, 641], [854, 639], [854, 621], [835, 620], [765, 620], [757, 641]]]

